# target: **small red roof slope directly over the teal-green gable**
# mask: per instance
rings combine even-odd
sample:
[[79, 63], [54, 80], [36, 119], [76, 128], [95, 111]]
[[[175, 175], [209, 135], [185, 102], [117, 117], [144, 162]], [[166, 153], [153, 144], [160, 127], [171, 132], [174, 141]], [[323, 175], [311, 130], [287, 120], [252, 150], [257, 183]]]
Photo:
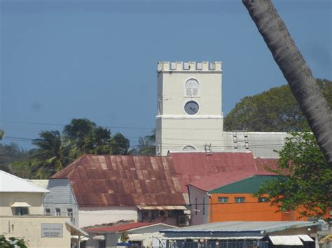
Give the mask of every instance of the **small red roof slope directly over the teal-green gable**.
[[223, 187], [227, 184], [244, 180], [245, 178], [252, 177], [254, 175], [276, 175], [275, 173], [263, 172], [263, 171], [240, 171], [234, 172], [221, 172], [214, 175], [209, 175], [195, 182], [191, 182], [190, 185], [202, 189], [203, 191], [209, 191], [219, 187]]

